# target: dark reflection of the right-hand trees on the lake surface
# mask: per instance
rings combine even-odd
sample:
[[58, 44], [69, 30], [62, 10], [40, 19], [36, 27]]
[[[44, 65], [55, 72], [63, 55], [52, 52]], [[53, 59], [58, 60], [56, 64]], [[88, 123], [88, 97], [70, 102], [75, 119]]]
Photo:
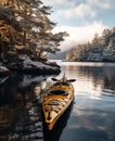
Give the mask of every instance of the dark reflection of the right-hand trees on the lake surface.
[[[115, 86], [113, 81], [115, 80], [114, 75], [114, 68], [101, 66], [101, 67], [79, 67], [79, 72], [81, 72], [81, 75], [85, 77], [88, 77], [89, 79], [92, 79], [93, 86], [101, 86], [102, 89], [113, 89], [115, 90]], [[111, 75], [110, 75], [111, 74]]]

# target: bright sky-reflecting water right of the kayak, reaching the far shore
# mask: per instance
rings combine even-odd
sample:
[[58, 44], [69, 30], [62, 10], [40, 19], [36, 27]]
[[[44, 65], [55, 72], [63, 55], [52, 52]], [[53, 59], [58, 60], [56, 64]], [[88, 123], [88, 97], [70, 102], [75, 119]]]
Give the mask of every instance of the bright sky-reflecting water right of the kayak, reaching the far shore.
[[115, 64], [62, 63], [74, 84], [75, 105], [60, 141], [115, 140]]

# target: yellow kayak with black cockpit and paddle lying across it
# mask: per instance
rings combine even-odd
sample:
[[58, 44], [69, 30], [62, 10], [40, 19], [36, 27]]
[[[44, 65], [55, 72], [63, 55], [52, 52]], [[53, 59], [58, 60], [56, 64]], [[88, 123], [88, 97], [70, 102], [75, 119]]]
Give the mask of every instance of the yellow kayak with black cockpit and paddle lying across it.
[[74, 99], [75, 79], [67, 80], [65, 76], [61, 80], [52, 78], [56, 82], [51, 86], [43, 95], [42, 108], [44, 120], [49, 130], [51, 130], [56, 120], [67, 110]]

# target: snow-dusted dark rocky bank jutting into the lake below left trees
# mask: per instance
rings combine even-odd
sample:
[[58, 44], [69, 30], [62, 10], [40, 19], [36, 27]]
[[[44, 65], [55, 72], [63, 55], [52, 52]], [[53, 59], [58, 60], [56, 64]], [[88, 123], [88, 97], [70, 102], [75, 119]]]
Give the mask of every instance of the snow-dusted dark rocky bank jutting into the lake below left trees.
[[59, 74], [61, 72], [60, 66], [55, 62], [39, 62], [31, 60], [28, 55], [20, 55], [16, 63], [9, 62], [7, 67], [1, 66], [0, 74], [10, 72], [23, 73], [23, 74]]

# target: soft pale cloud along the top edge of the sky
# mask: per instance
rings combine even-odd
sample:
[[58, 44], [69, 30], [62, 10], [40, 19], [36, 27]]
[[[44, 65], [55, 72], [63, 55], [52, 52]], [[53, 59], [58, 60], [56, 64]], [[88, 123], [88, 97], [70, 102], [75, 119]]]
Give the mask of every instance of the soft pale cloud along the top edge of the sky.
[[99, 9], [111, 9], [110, 0], [42, 0], [44, 3], [52, 7], [60, 5], [54, 13], [54, 16], [65, 18], [84, 18], [95, 17]]

